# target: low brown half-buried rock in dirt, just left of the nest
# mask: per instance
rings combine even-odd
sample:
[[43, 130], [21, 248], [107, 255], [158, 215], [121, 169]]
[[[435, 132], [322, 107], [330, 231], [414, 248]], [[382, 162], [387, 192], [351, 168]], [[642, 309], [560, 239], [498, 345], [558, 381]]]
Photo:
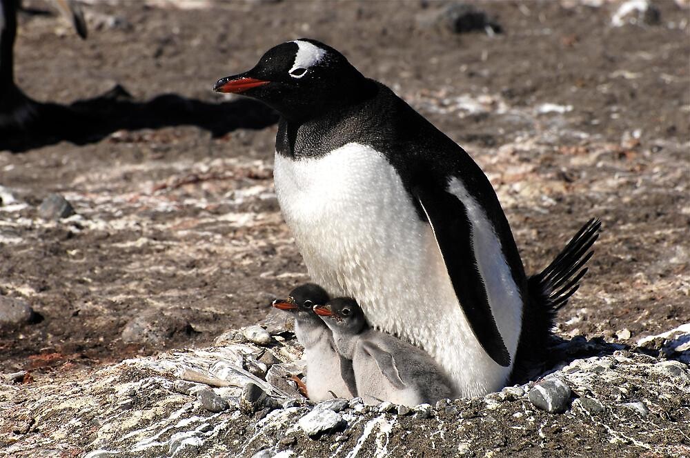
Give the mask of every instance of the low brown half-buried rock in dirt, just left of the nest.
[[175, 315], [151, 310], [128, 321], [122, 330], [122, 341], [144, 345], [162, 345], [179, 335], [192, 335], [189, 321]]

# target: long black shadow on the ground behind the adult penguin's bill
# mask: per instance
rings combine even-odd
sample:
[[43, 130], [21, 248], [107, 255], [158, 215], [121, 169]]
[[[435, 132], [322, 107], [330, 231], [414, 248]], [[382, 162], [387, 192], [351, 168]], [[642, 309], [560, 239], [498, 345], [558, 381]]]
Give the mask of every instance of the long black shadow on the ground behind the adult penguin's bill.
[[0, 124], [0, 150], [25, 152], [60, 141], [83, 145], [117, 130], [169, 126], [197, 126], [221, 137], [238, 128], [262, 129], [278, 120], [275, 111], [250, 99], [208, 103], [162, 94], [140, 102], [119, 85], [99, 97], [68, 106], [23, 98], [26, 115], [21, 126]]

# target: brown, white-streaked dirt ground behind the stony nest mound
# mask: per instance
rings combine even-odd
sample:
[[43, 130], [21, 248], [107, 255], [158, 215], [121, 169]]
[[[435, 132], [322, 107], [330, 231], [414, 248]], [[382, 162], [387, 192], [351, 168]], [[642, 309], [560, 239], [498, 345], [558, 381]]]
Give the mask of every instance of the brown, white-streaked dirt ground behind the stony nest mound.
[[[620, 2], [475, 3], [502, 26], [490, 36], [424, 25], [435, 2], [172, 3], [89, 2], [86, 41], [56, 17], [19, 19], [17, 82], [38, 101], [116, 84], [143, 106], [179, 97], [79, 144], [0, 152], [0, 185], [27, 204], [0, 207], [0, 295], [41, 317], [0, 330], [0, 372], [39, 380], [209, 344], [307, 280], [273, 192], [275, 115], [211, 90], [299, 37], [342, 50], [480, 163], [528, 272], [602, 219], [561, 335], [636, 341], [690, 321], [689, 10], [658, 1], [660, 23], [613, 27]], [[78, 215], [40, 219], [50, 192]], [[126, 323], [149, 312], [193, 332], [124, 342]]]

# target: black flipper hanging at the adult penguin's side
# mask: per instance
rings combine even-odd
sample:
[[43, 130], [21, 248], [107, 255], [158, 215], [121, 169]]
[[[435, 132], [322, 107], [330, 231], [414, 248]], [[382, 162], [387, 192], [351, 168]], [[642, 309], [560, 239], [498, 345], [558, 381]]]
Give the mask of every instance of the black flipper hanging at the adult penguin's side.
[[460, 199], [434, 186], [412, 190], [431, 225], [455, 296], [484, 351], [501, 366], [511, 364], [501, 332], [491, 312], [489, 294], [473, 248], [472, 223]]

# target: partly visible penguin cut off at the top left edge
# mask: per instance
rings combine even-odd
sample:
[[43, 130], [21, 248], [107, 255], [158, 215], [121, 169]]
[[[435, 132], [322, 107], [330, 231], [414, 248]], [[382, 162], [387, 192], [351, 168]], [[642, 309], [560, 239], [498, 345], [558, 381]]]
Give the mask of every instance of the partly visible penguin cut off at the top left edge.
[[[79, 3], [56, 0], [70, 17], [80, 37], [86, 38], [86, 22]], [[17, 37], [19, 0], [0, 0], [0, 130], [26, 128], [39, 118], [41, 104], [33, 101], [14, 84], [14, 39]]]

